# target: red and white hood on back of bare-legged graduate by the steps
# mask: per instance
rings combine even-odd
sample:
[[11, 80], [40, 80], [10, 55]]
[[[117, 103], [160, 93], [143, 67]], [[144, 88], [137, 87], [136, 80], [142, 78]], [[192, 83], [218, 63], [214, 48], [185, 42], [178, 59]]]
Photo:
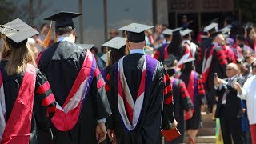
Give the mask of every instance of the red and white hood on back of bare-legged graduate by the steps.
[[[197, 81], [197, 74], [193, 70], [191, 70], [190, 72], [190, 79], [186, 89], [190, 94], [190, 99], [193, 102], [193, 105], [195, 106], [197, 89], [198, 89], [198, 81]], [[194, 113], [194, 110], [192, 110], [192, 112]], [[185, 120], [188, 120], [188, 119], [190, 119], [189, 114], [187, 111], [185, 111]]]

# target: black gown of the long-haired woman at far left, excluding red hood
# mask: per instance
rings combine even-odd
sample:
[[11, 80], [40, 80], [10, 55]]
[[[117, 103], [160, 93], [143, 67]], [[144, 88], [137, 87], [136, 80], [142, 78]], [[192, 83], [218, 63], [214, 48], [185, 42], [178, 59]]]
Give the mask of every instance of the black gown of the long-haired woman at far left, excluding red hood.
[[[24, 73], [8, 76], [6, 70], [4, 69], [6, 63], [7, 61], [0, 62], [0, 67], [2, 68], [2, 80], [6, 101], [6, 121], [8, 121], [10, 118], [11, 110], [14, 107], [14, 102], [18, 96], [19, 87], [22, 84]], [[56, 103], [52, 102], [49, 106], [42, 106], [42, 101], [50, 94], [52, 94], [52, 92], [51, 90], [47, 90], [43, 94], [38, 94], [36, 92], [38, 87], [42, 86], [46, 82], [47, 79], [42, 74], [42, 71], [36, 70], [36, 84], [34, 89], [35, 93], [30, 130], [30, 144], [50, 143], [52, 139], [52, 133], [50, 131], [50, 120], [46, 116], [46, 111], [48, 107], [53, 107], [56, 105]]]

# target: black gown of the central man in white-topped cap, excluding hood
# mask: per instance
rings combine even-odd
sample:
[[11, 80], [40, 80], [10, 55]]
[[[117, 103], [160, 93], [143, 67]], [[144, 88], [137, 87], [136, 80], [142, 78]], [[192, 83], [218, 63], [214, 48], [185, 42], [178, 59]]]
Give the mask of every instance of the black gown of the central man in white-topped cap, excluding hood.
[[[142, 78], [142, 66], [144, 62], [143, 54], [129, 54], [123, 59], [126, 81], [133, 98], [138, 93], [138, 87]], [[170, 122], [174, 121], [172, 102], [166, 100], [172, 97], [172, 92], [163, 94], [166, 86], [170, 86], [170, 81], [163, 82], [166, 70], [162, 67], [162, 63], [158, 62], [154, 71], [153, 82], [150, 83], [144, 95], [142, 112], [134, 130], [127, 130], [122, 122], [121, 115], [118, 111], [118, 86], [117, 77], [115, 77], [118, 63], [112, 66], [110, 76], [110, 106], [112, 116], [108, 119], [108, 128], [114, 129], [118, 144], [158, 144], [162, 142], [161, 127], [163, 129], [170, 128]], [[168, 77], [169, 78], [169, 77]], [[164, 98], [164, 99], [163, 99]], [[172, 98], [171, 98], [172, 99]], [[169, 99], [170, 100], [170, 99]], [[168, 103], [163, 105], [162, 102]], [[162, 121], [161, 121], [162, 120]]]

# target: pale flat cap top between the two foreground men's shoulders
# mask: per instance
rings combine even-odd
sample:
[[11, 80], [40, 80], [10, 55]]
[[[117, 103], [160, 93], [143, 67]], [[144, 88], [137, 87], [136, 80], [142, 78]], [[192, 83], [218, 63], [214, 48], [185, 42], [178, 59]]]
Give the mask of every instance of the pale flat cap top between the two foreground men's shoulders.
[[126, 46], [126, 38], [115, 37], [112, 38], [110, 41], [104, 43], [102, 46], [119, 50], [122, 48], [122, 46]]

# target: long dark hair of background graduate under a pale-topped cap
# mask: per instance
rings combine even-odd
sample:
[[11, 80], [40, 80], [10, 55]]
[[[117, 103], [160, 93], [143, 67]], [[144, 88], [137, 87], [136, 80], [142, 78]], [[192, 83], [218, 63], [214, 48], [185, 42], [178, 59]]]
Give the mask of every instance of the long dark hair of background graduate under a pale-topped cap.
[[167, 48], [168, 54], [173, 54], [175, 57], [180, 56], [182, 52], [182, 36], [181, 34], [173, 34], [173, 39]]

